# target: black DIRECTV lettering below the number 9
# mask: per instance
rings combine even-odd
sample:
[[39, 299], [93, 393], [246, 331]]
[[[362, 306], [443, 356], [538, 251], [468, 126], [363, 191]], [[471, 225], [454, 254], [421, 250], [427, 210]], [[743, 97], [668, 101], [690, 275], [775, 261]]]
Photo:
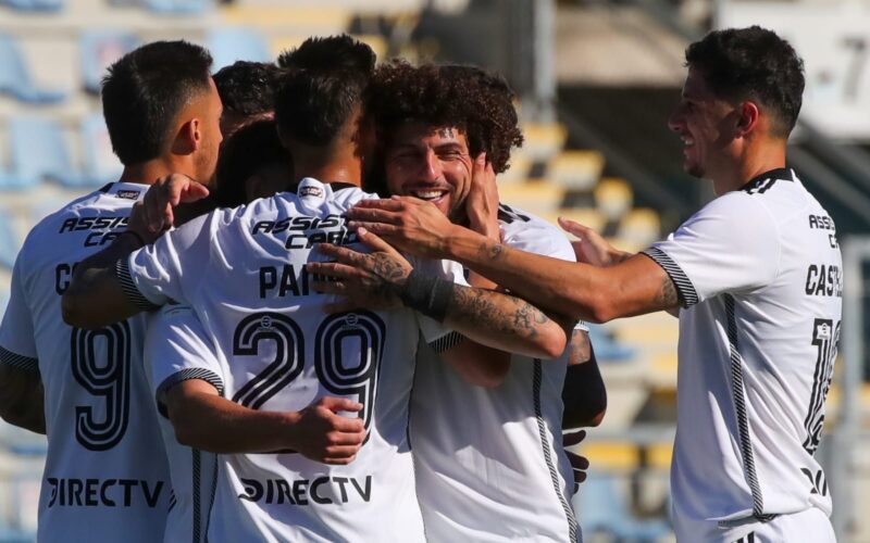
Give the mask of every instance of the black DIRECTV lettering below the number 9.
[[[142, 504], [157, 507], [163, 481], [136, 479], [46, 478], [51, 488], [49, 507], [129, 507]], [[138, 491], [136, 491], [138, 489]], [[135, 503], [134, 503], [135, 502]]]

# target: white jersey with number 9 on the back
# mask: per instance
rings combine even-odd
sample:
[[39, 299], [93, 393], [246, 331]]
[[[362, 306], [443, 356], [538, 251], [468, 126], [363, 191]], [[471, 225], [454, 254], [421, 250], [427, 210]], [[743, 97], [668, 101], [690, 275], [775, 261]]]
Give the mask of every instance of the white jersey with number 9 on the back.
[[15, 262], [0, 362], [38, 371], [45, 388], [40, 542], [163, 534], [171, 488], [142, 368], [145, 317], [96, 331], [61, 317], [75, 265], [123, 231], [147, 189], [116, 182], [73, 201], [34, 227]]

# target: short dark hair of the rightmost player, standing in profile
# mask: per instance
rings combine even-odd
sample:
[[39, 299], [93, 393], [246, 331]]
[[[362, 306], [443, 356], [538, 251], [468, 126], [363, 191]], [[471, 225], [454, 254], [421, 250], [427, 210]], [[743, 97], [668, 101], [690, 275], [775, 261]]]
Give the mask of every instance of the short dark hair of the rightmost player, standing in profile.
[[804, 94], [804, 61], [775, 33], [750, 26], [713, 30], [686, 49], [686, 66], [698, 71], [723, 100], [754, 100], [774, 118], [771, 132], [787, 137]]

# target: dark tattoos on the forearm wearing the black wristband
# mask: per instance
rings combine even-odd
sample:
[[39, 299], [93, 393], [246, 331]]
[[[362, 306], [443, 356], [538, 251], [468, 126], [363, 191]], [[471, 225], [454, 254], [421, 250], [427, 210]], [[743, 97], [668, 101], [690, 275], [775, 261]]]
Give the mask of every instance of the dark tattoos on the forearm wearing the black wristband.
[[458, 286], [447, 315], [462, 324], [522, 338], [535, 338], [539, 328], [549, 321], [547, 315], [524, 300], [508, 296], [506, 306], [501, 306], [495, 302], [495, 296], [504, 294]]

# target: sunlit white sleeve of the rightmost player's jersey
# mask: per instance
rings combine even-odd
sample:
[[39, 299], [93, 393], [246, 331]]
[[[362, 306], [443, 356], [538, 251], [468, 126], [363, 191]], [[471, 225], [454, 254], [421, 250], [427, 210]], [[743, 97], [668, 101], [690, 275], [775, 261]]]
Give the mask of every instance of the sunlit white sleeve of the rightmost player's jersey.
[[671, 277], [685, 306], [769, 285], [780, 261], [779, 229], [754, 195], [731, 192], [644, 254]]

